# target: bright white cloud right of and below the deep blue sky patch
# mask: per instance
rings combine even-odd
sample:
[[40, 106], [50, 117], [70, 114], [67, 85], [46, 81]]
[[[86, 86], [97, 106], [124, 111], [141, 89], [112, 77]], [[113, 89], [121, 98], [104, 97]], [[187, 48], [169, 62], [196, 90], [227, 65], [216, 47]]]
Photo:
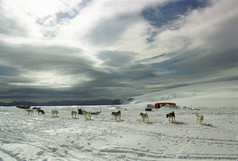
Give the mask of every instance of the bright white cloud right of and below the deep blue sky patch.
[[236, 6], [237, 1], [219, 1], [213, 6], [192, 11], [175, 22], [175, 25], [180, 24], [179, 29], [158, 32], [159, 34], [154, 37], [155, 41], [151, 43], [153, 52], [147, 56], [166, 54], [167, 57], [168, 53], [173, 53], [176, 57], [180, 54], [184, 57], [184, 54], [192, 54], [194, 50], [199, 50], [199, 55], [202, 55], [236, 48], [235, 44], [238, 42]]

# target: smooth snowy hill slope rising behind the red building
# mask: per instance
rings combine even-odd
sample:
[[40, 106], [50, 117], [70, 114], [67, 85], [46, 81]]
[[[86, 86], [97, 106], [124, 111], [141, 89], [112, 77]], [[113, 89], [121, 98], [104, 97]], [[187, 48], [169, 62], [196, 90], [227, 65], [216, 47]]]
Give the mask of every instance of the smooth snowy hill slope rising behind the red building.
[[175, 102], [187, 107], [232, 107], [238, 104], [238, 81], [205, 83], [133, 98], [132, 104]]

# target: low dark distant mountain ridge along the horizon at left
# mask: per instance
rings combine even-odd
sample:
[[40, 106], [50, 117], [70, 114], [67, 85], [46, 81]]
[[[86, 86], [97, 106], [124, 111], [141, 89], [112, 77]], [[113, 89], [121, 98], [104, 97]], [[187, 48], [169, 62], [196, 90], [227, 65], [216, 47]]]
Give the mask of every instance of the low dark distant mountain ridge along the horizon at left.
[[30, 101], [13, 101], [10, 103], [0, 102], [0, 106], [17, 106], [17, 105], [30, 105], [30, 106], [70, 106], [70, 105], [118, 105], [120, 102], [117, 100], [100, 99], [100, 100], [86, 100], [86, 101], [49, 101], [49, 102], [30, 102]]

